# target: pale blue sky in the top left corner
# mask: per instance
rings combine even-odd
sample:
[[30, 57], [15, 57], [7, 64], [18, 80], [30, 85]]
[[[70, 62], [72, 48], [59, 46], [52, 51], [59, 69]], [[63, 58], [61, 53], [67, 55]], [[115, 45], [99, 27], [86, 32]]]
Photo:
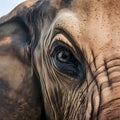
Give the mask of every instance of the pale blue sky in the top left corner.
[[25, 0], [0, 0], [0, 17], [9, 13], [14, 7]]

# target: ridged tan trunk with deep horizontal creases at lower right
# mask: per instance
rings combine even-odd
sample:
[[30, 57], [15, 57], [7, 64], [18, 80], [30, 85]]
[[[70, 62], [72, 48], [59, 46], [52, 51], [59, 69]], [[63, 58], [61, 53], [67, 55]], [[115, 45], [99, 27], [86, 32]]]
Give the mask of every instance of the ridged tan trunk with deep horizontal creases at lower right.
[[104, 62], [96, 77], [100, 91], [99, 119], [120, 119], [120, 58]]

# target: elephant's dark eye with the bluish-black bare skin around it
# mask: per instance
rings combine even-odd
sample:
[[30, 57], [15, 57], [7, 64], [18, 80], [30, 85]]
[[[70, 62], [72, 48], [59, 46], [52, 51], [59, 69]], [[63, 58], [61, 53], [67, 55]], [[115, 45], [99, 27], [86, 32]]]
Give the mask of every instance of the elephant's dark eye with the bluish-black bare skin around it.
[[55, 67], [62, 73], [77, 79], [83, 79], [84, 63], [79, 62], [72, 48], [63, 42], [54, 43], [52, 47], [52, 60]]

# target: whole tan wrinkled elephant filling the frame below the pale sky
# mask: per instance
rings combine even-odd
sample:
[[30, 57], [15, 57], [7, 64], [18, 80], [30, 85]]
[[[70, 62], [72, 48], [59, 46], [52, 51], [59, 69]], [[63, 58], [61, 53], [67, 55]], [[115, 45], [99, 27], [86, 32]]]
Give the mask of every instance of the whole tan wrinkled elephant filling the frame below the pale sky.
[[[17, 66], [13, 61], [17, 59], [24, 70], [12, 69], [16, 72], [15, 77], [9, 73], [12, 80], [3, 77], [7, 85], [1, 88], [3, 97], [0, 99], [9, 101], [11, 89], [8, 91], [8, 87], [15, 91], [17, 103], [24, 96], [19, 96], [17, 90], [26, 93], [24, 101], [32, 91], [30, 101], [35, 107], [31, 108], [38, 107], [39, 118], [35, 118], [30, 106], [22, 109], [34, 117], [32, 120], [119, 120], [119, 6], [119, 0], [38, 0], [9, 15], [5, 22], [3, 19], [0, 51], [5, 56], [0, 56], [8, 63], [3, 67]], [[8, 61], [8, 56], [13, 59]], [[32, 72], [27, 71], [26, 66]], [[8, 74], [7, 70], [2, 69], [0, 75]], [[22, 73], [19, 80], [17, 74]], [[4, 83], [5, 79], [1, 81]], [[8, 101], [2, 106], [9, 113]], [[16, 101], [12, 102], [15, 109]], [[24, 116], [21, 120], [30, 119], [24, 113], [15, 112]]]

